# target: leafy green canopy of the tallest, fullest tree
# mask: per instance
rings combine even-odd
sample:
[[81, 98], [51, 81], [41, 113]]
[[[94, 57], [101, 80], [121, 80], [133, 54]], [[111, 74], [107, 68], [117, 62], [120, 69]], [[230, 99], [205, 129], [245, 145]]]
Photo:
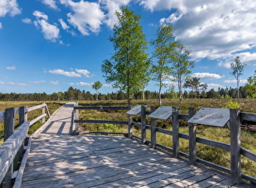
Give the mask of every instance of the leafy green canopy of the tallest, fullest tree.
[[130, 104], [133, 93], [142, 90], [148, 79], [150, 63], [145, 50], [148, 47], [140, 15], [126, 7], [116, 12], [119, 23], [114, 25], [114, 34], [109, 40], [113, 43], [114, 54], [102, 64], [103, 77], [114, 88], [126, 92]]

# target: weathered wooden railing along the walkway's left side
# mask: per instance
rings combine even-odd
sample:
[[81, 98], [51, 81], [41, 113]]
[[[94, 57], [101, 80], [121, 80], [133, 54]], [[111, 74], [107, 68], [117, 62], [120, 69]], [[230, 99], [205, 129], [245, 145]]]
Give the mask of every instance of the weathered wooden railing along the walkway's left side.
[[[35, 111], [42, 109], [42, 114], [35, 117], [34, 120], [28, 121], [29, 111]], [[14, 131], [15, 116], [19, 114], [19, 127]], [[20, 108], [8, 108], [5, 111], [0, 112], [0, 122], [4, 121], [4, 143], [0, 145], [0, 183], [2, 187], [11, 187], [12, 180], [16, 179], [19, 175], [17, 171], [14, 171], [14, 158], [16, 163], [20, 163], [22, 160], [24, 150], [27, 150], [26, 142], [31, 142], [31, 139], [26, 141], [29, 127], [42, 120], [42, 124], [45, 123], [45, 117], [50, 117], [50, 112], [47, 105], [37, 105], [34, 107], [20, 107]], [[21, 162], [22, 167], [24, 162]], [[26, 162], [25, 162], [26, 163]]]

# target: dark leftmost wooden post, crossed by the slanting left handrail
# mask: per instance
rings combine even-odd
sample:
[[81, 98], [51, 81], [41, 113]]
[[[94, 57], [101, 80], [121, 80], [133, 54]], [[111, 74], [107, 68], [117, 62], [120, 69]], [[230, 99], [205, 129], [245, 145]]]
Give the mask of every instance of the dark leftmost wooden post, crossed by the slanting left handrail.
[[[14, 120], [15, 120], [14, 111], [15, 111], [15, 108], [5, 109], [4, 141], [6, 141], [14, 132]], [[13, 171], [14, 171], [14, 164], [12, 163], [2, 182], [3, 188], [11, 187], [11, 175], [13, 174]]]

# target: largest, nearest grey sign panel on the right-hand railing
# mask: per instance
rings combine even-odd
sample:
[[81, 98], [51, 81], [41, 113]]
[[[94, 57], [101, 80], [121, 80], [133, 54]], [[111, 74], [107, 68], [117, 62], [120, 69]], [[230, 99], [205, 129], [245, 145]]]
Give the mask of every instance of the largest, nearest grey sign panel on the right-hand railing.
[[197, 123], [209, 126], [225, 126], [230, 120], [230, 110], [224, 108], [201, 108], [188, 123]]

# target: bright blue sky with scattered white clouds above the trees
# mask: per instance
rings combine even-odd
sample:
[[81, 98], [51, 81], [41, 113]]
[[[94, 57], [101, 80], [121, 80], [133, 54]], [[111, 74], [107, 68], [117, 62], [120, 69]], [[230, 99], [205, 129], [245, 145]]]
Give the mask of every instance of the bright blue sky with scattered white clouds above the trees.
[[[101, 65], [114, 53], [108, 38], [122, 5], [142, 16], [148, 41], [160, 23], [171, 22], [192, 52], [192, 76], [209, 89], [236, 87], [230, 74], [236, 56], [247, 64], [240, 85], [254, 74], [254, 0], [0, 0], [0, 92], [50, 94], [69, 86], [95, 92], [97, 80], [104, 84], [99, 92], [115, 91]], [[150, 82], [146, 89], [158, 88]]]

